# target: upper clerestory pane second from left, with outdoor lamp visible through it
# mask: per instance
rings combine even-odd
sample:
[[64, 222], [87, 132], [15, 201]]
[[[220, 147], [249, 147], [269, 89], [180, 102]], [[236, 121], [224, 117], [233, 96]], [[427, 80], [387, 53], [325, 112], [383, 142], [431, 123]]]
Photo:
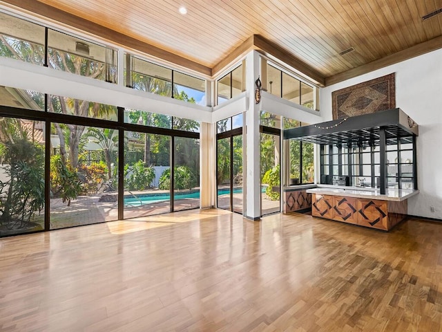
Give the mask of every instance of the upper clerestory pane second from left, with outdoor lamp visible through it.
[[83, 39], [48, 31], [48, 65], [59, 71], [117, 82], [117, 51]]

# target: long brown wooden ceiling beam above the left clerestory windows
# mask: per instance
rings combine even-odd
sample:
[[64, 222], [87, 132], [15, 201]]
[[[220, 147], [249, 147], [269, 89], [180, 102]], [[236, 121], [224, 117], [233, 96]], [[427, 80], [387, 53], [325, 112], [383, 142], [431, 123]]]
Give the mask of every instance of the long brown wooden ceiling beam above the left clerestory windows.
[[21, 10], [28, 10], [28, 12], [34, 15], [37, 14], [40, 15], [41, 17], [52, 19], [66, 26], [71, 26], [73, 28], [82, 30], [86, 33], [90, 33], [92, 35], [104, 38], [109, 42], [113, 42], [121, 46], [131, 48], [133, 50], [137, 50], [142, 53], [146, 53], [148, 55], [152, 55], [153, 57], [157, 57], [158, 59], [163, 59], [166, 62], [170, 62], [172, 64], [188, 68], [191, 71], [195, 71], [197, 73], [201, 73], [206, 76], [211, 76], [212, 69], [202, 64], [199, 64], [198, 62], [194, 62], [191, 59], [181, 57], [180, 55], [176, 55], [174, 53], [169, 52], [168, 50], [164, 50], [152, 44], [142, 42], [133, 37], [128, 37], [127, 35], [118, 33], [117, 31], [111, 30], [104, 26], [100, 26], [99, 24], [96, 24], [92, 21], [82, 19], [81, 17], [70, 14], [69, 12], [65, 12], [63, 10], [54, 8], [52, 6], [48, 6], [45, 3], [41, 3], [40, 1], [3, 0], [3, 2], [9, 3], [10, 5], [20, 8]]

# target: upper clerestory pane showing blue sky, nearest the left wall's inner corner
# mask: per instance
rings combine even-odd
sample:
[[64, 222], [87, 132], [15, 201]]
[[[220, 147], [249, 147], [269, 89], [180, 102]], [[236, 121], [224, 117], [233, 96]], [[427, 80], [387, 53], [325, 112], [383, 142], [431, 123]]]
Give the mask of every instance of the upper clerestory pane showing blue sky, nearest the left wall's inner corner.
[[206, 106], [206, 81], [173, 71], [173, 98]]

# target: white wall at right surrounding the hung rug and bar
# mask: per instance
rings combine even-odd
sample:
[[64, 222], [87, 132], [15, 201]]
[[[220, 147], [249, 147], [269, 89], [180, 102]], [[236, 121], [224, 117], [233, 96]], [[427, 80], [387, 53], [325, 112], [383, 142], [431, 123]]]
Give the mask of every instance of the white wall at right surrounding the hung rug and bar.
[[442, 49], [321, 89], [321, 116], [332, 120], [332, 91], [389, 73], [396, 73], [396, 107], [419, 124], [420, 193], [408, 200], [408, 214], [442, 219]]

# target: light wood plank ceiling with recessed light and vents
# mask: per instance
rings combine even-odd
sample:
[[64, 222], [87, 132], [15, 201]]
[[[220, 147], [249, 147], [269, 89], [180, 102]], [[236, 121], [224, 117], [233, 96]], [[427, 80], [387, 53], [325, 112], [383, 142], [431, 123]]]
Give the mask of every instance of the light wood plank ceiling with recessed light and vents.
[[[442, 47], [442, 14], [422, 19], [442, 8], [442, 0], [1, 2], [25, 9], [31, 2], [57, 8], [209, 68], [216, 68], [251, 35], [260, 35], [314, 68], [324, 82], [345, 79], [355, 68], [373, 70], [376, 66], [369, 64], [387, 57], [394, 62], [396, 54], [400, 61]], [[186, 15], [178, 12], [182, 5]], [[340, 55], [349, 48], [354, 50]]]

